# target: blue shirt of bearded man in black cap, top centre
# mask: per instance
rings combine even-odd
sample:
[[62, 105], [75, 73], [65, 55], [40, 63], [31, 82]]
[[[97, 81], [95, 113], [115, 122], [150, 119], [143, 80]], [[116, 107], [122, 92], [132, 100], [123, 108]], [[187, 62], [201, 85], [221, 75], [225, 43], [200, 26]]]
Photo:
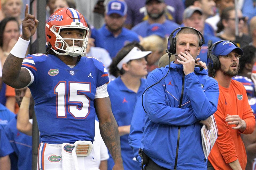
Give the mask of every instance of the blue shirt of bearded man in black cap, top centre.
[[[173, 30], [180, 27], [179, 24], [177, 24], [173, 21], [170, 21], [170, 20], [166, 20], [162, 25], [165, 28], [166, 32], [164, 34], [167, 37], [172, 33]], [[134, 26], [132, 28], [132, 31], [136, 32], [137, 34], [139, 34], [142, 37], [146, 37], [146, 36], [148, 36], [147, 35], [147, 29], [148, 29], [149, 26], [150, 26], [150, 23], [146, 20], [146, 21], [143, 21], [143, 22], [137, 24], [136, 26]], [[176, 32], [175, 32], [175, 35], [176, 35]]]

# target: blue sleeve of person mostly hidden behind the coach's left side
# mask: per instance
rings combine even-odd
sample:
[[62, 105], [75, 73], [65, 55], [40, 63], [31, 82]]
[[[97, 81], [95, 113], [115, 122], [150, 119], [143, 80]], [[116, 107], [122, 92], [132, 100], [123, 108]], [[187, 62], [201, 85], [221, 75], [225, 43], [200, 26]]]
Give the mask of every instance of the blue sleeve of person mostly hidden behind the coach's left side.
[[133, 155], [136, 157], [136, 160], [141, 163], [141, 157], [139, 156], [140, 141], [144, 131], [144, 120], [145, 112], [141, 105], [141, 96], [137, 99], [137, 102], [134, 107], [132, 122], [130, 127], [130, 134], [128, 137], [129, 145], [133, 149]]

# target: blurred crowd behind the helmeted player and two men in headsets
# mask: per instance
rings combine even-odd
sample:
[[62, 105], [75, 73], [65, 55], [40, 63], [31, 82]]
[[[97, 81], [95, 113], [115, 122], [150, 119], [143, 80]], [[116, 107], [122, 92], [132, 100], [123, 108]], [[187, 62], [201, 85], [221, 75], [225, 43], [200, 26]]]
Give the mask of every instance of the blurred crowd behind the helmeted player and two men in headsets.
[[[3, 64], [21, 35], [21, 22], [26, 3], [29, 4], [29, 1], [1, 0], [0, 77]], [[247, 96], [250, 98], [249, 104], [254, 111], [256, 78], [251, 78], [251, 75], [256, 74], [255, 1], [238, 0], [237, 8], [234, 0], [47, 0], [46, 3], [46, 20], [55, 10], [64, 7], [77, 9], [86, 18], [90, 29], [86, 54], [103, 62], [110, 73], [109, 79], [113, 81], [108, 93], [119, 126], [123, 161], [131, 159], [127, 161], [127, 167], [134, 166], [138, 170], [141, 169], [140, 164], [136, 162], [139, 158], [133, 159], [128, 136], [134, 106], [145, 89], [144, 78], [153, 69], [158, 68], [160, 57], [166, 53], [168, 37], [178, 27], [193, 27], [203, 34], [205, 43], [202, 45], [198, 60], [206, 64], [208, 40], [212, 40], [213, 43], [230, 40], [243, 49], [240, 71], [234, 79], [245, 85]], [[236, 16], [238, 34], [236, 34]], [[131, 51], [132, 48], [126, 45], [132, 42], [134, 43], [132, 48], [135, 46], [141, 51], [152, 51], [152, 53], [148, 54], [146, 60], [140, 59], [143, 62], [140, 66], [135, 64], [132, 68], [118, 68], [116, 61], [120, 61], [118, 57], [123, 56], [120, 50], [129, 48]], [[143, 70], [140, 70], [140, 67], [143, 67]], [[2, 136], [6, 135], [7, 140], [10, 141], [10, 146], [6, 147], [13, 148], [7, 153], [7, 156], [10, 155], [11, 169], [18, 169], [22, 164], [27, 167], [31, 164], [31, 159], [28, 159], [29, 154], [25, 154], [24, 151], [30, 153], [32, 150], [31, 136], [18, 131], [16, 122], [12, 121], [17, 118], [15, 114], [18, 113], [20, 104], [18, 99], [22, 96], [21, 93], [24, 96], [25, 92], [15, 91], [2, 81], [0, 88], [0, 151], [3, 150]], [[120, 88], [118, 94], [122, 93], [123, 96], [129, 97], [120, 96], [118, 101], [119, 98], [115, 98], [117, 93], [115, 88]], [[122, 107], [123, 110], [120, 111], [117, 106]], [[246, 169], [251, 170], [253, 160], [256, 158], [256, 132], [244, 136], [243, 142], [248, 157]], [[17, 145], [22, 148], [19, 149]], [[0, 154], [0, 157], [5, 156]], [[101, 161], [106, 162], [108, 158], [108, 154], [104, 152]], [[102, 163], [101, 170], [111, 169], [112, 164], [110, 157], [108, 164]], [[0, 169], [3, 168], [0, 159]]]

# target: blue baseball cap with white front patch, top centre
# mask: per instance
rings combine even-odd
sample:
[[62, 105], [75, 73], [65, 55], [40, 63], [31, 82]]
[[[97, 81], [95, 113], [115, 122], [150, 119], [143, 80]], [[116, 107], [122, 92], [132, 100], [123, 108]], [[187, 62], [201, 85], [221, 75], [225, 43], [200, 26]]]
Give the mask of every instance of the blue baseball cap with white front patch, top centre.
[[106, 14], [119, 14], [121, 16], [126, 15], [127, 5], [124, 1], [109, 1], [106, 6]]

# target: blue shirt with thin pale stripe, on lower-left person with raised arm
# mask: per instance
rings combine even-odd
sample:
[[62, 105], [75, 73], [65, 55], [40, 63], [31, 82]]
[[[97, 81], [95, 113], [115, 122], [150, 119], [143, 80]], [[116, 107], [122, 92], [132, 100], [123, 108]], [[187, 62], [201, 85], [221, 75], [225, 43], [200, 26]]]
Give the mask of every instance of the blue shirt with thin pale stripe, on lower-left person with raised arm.
[[[5, 126], [6, 136], [18, 157], [18, 169], [32, 169], [32, 136], [17, 130], [17, 116]], [[13, 162], [12, 162], [13, 164]]]

